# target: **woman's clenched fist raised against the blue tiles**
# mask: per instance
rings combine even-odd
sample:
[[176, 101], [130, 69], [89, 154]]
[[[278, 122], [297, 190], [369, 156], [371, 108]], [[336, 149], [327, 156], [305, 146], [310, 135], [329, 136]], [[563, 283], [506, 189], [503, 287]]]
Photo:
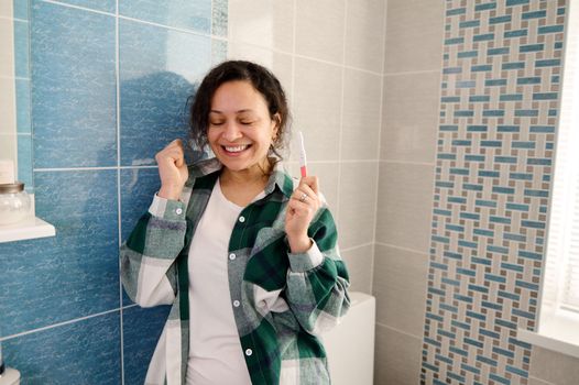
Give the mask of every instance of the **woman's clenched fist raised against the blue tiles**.
[[181, 139], [174, 140], [156, 153], [155, 161], [161, 177], [161, 189], [157, 195], [161, 198], [178, 200], [189, 176]]

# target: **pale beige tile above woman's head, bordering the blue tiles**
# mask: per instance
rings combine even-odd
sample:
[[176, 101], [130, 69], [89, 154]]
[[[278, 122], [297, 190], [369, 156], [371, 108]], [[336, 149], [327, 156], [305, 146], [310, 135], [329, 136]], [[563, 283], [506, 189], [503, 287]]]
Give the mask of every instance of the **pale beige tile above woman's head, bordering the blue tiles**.
[[294, 2], [267, 0], [229, 1], [229, 38], [292, 53]]

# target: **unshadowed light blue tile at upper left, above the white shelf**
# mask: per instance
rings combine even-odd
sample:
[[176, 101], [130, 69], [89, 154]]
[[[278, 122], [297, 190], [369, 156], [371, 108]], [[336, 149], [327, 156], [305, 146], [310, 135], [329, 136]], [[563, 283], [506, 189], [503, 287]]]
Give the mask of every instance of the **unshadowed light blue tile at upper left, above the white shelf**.
[[35, 168], [117, 165], [114, 18], [32, 7]]

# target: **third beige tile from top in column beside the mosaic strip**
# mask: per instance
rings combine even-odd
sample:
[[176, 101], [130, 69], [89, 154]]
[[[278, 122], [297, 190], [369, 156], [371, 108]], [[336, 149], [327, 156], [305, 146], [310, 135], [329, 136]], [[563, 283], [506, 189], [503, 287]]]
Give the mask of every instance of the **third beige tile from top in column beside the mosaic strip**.
[[427, 252], [435, 167], [380, 163], [376, 242]]

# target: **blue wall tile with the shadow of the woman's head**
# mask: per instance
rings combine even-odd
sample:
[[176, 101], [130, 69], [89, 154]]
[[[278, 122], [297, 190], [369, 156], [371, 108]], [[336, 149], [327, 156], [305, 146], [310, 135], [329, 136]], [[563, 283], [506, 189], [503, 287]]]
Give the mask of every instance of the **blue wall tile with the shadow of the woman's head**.
[[121, 165], [154, 165], [187, 138], [187, 98], [210, 66], [210, 37], [120, 21]]

